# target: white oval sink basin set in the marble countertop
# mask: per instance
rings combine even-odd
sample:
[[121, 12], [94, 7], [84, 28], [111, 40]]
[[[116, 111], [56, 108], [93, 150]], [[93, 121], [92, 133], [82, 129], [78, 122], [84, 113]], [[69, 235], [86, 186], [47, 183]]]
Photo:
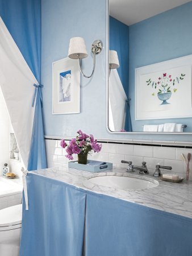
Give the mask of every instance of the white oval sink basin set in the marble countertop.
[[95, 185], [102, 185], [105, 187], [120, 188], [120, 189], [147, 189], [154, 188], [158, 186], [158, 181], [151, 178], [139, 177], [139, 175], [130, 175], [126, 174], [117, 176], [117, 175], [105, 175], [105, 176], [95, 176], [90, 177], [89, 182]]

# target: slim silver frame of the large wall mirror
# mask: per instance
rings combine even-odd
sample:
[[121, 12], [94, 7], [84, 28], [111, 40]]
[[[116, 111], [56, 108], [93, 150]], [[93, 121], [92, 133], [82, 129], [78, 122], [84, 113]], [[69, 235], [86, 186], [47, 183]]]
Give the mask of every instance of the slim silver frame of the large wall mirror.
[[111, 134], [173, 134], [173, 135], [191, 135], [191, 132], [183, 133], [159, 133], [152, 131], [111, 131], [108, 127], [108, 81], [109, 81], [109, 72], [108, 72], [108, 50], [109, 50], [109, 1], [106, 0], [106, 128], [107, 131]]

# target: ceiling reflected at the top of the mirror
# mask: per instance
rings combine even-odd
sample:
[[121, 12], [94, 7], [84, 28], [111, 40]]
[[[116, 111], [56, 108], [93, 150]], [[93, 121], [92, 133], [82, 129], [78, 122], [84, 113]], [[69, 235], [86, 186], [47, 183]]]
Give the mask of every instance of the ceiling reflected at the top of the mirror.
[[130, 26], [191, 0], [108, 0], [112, 17]]

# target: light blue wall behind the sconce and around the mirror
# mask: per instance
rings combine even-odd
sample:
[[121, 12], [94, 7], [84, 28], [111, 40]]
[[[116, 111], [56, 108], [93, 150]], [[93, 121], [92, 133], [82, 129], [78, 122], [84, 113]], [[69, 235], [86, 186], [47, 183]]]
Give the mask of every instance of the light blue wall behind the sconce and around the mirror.
[[[93, 0], [84, 0], [83, 2], [78, 0], [42, 0], [41, 10], [41, 83], [44, 85], [45, 135], [74, 136], [78, 129], [82, 129], [98, 138], [191, 140], [191, 135], [111, 134], [107, 131], [106, 33], [108, 24], [106, 24], [105, 1], [99, 0], [95, 5]], [[82, 78], [81, 80], [81, 113], [52, 115], [52, 62], [68, 55], [69, 39], [73, 36], [84, 37], [88, 51], [90, 51], [90, 45], [94, 39], [101, 39], [105, 48], [101, 55], [97, 56], [93, 79]], [[90, 73], [91, 57], [83, 60], [83, 63], [85, 63], [85, 71]], [[145, 65], [144, 60], [142, 65]]]

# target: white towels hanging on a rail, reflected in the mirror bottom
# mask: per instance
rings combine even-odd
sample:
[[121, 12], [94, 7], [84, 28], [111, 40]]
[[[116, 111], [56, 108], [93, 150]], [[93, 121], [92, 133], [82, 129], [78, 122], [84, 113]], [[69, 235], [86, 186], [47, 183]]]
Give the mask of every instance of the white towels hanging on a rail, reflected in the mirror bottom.
[[164, 123], [162, 125], [144, 125], [143, 131], [153, 131], [158, 133], [182, 133], [182, 123]]

